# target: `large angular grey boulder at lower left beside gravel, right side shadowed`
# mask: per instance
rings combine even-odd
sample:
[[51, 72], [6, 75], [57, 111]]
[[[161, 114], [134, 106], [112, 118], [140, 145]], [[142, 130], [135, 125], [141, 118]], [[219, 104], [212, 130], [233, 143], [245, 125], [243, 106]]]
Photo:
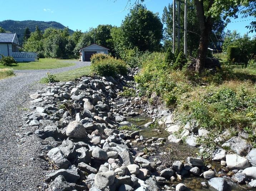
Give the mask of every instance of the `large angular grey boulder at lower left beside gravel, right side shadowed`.
[[58, 147], [51, 149], [47, 153], [47, 156], [60, 169], [67, 169], [69, 165], [71, 165], [66, 156], [61, 152], [61, 150]]

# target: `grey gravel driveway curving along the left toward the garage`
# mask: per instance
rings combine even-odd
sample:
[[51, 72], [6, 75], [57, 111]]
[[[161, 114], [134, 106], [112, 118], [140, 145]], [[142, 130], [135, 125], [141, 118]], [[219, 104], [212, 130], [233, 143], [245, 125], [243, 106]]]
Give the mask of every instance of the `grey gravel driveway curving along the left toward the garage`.
[[29, 95], [43, 88], [38, 81], [46, 72], [59, 73], [90, 65], [75, 63], [65, 68], [15, 70], [15, 77], [0, 80], [0, 191], [44, 190], [47, 164], [39, 158], [42, 140], [31, 135], [33, 128], [22, 128], [22, 115], [28, 112]]

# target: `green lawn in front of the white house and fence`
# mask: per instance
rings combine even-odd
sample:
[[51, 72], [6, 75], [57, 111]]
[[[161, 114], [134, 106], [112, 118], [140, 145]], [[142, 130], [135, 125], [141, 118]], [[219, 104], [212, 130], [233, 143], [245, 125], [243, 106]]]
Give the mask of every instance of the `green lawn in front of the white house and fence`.
[[51, 69], [73, 66], [72, 63], [75, 60], [58, 60], [53, 58], [40, 58], [38, 62], [18, 62], [11, 66], [0, 65], [1, 68], [13, 68], [13, 69]]

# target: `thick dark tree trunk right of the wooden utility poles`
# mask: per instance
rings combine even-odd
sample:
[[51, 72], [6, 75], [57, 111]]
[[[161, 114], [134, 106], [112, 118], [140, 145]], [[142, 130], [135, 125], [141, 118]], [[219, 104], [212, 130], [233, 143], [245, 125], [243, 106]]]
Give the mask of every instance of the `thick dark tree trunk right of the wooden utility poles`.
[[[212, 31], [212, 18], [205, 16], [205, 7], [202, 0], [194, 0], [197, 11], [197, 19], [200, 27], [200, 43], [198, 47], [198, 56], [196, 62], [196, 72], [201, 73], [205, 68], [205, 60], [207, 56], [207, 48], [209, 43], [209, 36]], [[208, 11], [213, 4], [213, 0], [209, 0], [206, 10]]]

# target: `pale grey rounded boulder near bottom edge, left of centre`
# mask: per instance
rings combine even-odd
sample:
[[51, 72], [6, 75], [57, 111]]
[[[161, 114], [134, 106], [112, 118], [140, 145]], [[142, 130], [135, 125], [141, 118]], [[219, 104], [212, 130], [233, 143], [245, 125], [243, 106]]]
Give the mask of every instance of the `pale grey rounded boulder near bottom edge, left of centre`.
[[115, 180], [115, 172], [110, 170], [108, 172], [99, 172], [94, 177], [95, 186], [100, 190], [105, 189], [105, 187], [112, 185]]

